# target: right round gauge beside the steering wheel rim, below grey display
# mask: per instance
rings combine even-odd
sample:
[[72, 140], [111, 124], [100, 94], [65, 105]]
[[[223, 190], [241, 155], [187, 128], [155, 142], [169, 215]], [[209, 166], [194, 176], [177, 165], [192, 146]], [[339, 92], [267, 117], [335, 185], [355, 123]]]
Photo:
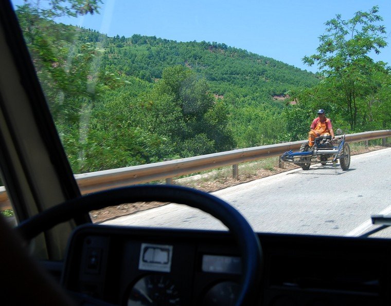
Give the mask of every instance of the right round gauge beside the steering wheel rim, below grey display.
[[240, 286], [236, 282], [219, 282], [206, 293], [203, 305], [235, 305], [239, 289]]

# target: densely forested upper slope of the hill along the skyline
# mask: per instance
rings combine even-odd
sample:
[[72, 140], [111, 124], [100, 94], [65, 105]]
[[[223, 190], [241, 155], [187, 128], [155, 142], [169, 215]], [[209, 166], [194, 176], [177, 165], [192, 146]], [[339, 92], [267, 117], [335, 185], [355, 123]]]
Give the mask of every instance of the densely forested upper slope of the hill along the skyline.
[[104, 69], [148, 82], [162, 78], [168, 66], [185, 65], [204, 77], [216, 95], [230, 93], [256, 104], [272, 103], [273, 97], [318, 83], [313, 73], [223, 43], [184, 43], [138, 34], [108, 37], [81, 30], [84, 43], [101, 43], [106, 50]]

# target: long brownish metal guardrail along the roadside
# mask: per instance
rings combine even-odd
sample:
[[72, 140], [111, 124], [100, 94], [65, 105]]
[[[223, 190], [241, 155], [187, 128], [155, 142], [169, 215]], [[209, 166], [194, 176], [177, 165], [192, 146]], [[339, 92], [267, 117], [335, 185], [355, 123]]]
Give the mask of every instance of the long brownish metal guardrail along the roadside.
[[[379, 130], [346, 135], [346, 141], [361, 142], [371, 139], [391, 137], [391, 130]], [[338, 138], [338, 136], [336, 137]], [[92, 173], [77, 174], [75, 179], [82, 194], [97, 192], [102, 189], [122, 187], [156, 180], [170, 180], [174, 177], [196, 173], [203, 170], [234, 166], [237, 164], [280, 156], [288, 150], [296, 150], [306, 140], [265, 145], [252, 148], [236, 149], [232, 151], [201, 155], [183, 159], [176, 159], [153, 164], [131, 166], [119, 169], [96, 171]], [[2, 189], [3, 188], [3, 189]], [[4, 187], [0, 187], [0, 210], [10, 209], [10, 203]]]

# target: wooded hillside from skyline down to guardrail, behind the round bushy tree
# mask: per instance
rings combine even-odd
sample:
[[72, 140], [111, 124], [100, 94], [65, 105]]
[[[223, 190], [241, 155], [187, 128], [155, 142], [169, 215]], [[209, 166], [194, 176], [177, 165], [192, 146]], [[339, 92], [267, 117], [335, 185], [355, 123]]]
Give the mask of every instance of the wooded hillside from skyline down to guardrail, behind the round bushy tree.
[[234, 147], [291, 140], [281, 116], [292, 100], [289, 94], [313, 87], [320, 79], [319, 75], [225, 44], [175, 42], [138, 34], [108, 37], [97, 31], [80, 31], [83, 43], [95, 43], [106, 50], [100, 59], [101, 69], [122, 78], [135, 77], [154, 84], [165, 68], [181, 65], [205, 79], [209, 91], [227, 107]]

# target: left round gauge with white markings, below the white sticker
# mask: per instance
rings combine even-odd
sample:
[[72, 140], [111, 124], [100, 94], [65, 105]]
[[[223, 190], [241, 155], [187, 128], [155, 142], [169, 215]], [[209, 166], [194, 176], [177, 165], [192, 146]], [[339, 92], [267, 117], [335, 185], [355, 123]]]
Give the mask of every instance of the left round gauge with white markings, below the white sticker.
[[133, 286], [128, 305], [179, 305], [179, 292], [165, 275], [147, 275]]

